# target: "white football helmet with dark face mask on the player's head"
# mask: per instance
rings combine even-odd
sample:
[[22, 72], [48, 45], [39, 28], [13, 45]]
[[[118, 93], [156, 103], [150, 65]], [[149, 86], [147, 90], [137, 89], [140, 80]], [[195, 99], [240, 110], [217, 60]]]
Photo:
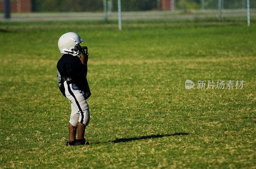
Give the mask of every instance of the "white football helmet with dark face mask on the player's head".
[[73, 56], [80, 55], [82, 53], [81, 46], [79, 43], [82, 43], [83, 39], [77, 33], [68, 32], [61, 35], [58, 41], [58, 47], [61, 54], [72, 54]]

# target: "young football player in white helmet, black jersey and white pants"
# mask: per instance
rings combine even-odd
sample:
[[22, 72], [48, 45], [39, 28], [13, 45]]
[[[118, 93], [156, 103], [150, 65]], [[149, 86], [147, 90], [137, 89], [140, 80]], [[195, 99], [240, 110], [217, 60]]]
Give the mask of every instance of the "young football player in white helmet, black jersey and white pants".
[[58, 85], [61, 93], [71, 102], [67, 146], [89, 144], [84, 139], [84, 131], [85, 126], [90, 121], [89, 106], [86, 99], [90, 97], [91, 92], [86, 79], [87, 47], [80, 46], [82, 42], [83, 39], [74, 32], [61, 35], [58, 41], [58, 47], [62, 54], [57, 63]]

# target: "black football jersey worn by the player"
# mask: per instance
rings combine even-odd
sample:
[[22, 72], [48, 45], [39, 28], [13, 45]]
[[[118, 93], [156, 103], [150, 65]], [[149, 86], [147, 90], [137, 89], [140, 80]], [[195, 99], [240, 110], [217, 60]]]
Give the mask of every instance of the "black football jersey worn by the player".
[[86, 79], [87, 66], [84, 66], [77, 56], [71, 54], [63, 54], [57, 63], [58, 69], [58, 85], [61, 93], [65, 95], [64, 82], [76, 85], [83, 91], [85, 99], [91, 95], [90, 88]]

